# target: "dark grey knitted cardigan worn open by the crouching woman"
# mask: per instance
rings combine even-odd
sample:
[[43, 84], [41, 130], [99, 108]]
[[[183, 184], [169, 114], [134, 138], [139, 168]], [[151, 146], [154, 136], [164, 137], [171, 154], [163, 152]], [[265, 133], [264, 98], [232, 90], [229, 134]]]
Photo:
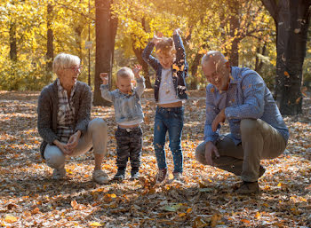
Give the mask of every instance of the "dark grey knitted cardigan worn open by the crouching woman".
[[[76, 82], [76, 90], [73, 96], [75, 107], [74, 131], [81, 130], [81, 136], [87, 130], [91, 118], [92, 91], [82, 82]], [[44, 141], [40, 145], [40, 152], [44, 158], [44, 150], [47, 144], [52, 145], [55, 139], [60, 140], [57, 133], [57, 114], [59, 112], [59, 96], [56, 81], [44, 87], [38, 99], [37, 128]]]

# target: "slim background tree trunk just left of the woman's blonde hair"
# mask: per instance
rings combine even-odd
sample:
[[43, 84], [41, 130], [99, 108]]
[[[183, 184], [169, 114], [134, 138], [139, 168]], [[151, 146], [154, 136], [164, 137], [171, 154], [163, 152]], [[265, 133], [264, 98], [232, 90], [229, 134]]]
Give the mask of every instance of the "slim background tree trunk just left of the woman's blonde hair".
[[52, 26], [52, 11], [53, 6], [51, 3], [47, 4], [47, 20], [46, 20], [46, 27], [47, 27], [47, 42], [46, 42], [46, 83], [50, 83], [52, 80], [52, 63], [54, 59], [54, 47], [53, 47], [53, 30]]

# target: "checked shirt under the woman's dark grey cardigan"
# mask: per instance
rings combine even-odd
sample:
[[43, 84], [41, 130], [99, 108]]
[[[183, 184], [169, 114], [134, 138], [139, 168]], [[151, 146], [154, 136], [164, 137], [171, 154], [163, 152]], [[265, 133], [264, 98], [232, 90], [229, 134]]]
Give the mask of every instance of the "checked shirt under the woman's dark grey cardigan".
[[68, 139], [74, 133], [75, 108], [73, 104], [73, 96], [76, 90], [76, 83], [71, 90], [68, 99], [67, 91], [60, 84], [60, 79], [57, 79], [58, 95], [59, 95], [59, 113], [57, 115], [57, 136], [60, 142], [67, 143]]

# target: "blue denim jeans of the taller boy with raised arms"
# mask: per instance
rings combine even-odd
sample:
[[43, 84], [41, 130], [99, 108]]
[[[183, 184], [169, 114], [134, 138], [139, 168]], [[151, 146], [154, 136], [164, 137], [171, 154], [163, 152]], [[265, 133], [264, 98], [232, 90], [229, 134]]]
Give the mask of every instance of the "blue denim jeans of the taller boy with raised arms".
[[182, 172], [181, 132], [184, 126], [184, 107], [156, 107], [154, 147], [159, 169], [166, 169], [164, 151], [166, 131], [169, 132], [170, 148], [174, 162], [174, 172]]

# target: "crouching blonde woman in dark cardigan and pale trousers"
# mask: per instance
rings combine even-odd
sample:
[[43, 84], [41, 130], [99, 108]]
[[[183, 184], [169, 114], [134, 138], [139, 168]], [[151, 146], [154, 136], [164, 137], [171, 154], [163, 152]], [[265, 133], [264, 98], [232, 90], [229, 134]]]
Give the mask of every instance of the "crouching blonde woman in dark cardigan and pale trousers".
[[38, 100], [37, 128], [44, 139], [40, 151], [53, 170], [52, 177], [66, 175], [65, 159], [86, 153], [93, 147], [95, 168], [92, 178], [99, 184], [108, 183], [101, 170], [107, 154], [107, 124], [100, 118], [90, 120], [92, 92], [85, 83], [77, 81], [81, 72], [77, 56], [60, 53], [52, 65], [57, 79], [44, 87]]

